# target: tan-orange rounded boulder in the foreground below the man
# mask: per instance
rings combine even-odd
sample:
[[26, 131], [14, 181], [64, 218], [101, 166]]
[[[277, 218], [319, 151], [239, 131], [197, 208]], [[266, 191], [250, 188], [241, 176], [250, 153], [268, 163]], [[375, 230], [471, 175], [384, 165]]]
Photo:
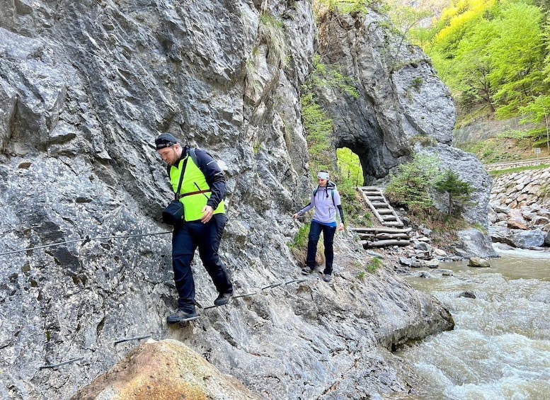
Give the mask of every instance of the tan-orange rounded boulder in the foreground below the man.
[[179, 341], [140, 345], [74, 400], [224, 399], [260, 400]]

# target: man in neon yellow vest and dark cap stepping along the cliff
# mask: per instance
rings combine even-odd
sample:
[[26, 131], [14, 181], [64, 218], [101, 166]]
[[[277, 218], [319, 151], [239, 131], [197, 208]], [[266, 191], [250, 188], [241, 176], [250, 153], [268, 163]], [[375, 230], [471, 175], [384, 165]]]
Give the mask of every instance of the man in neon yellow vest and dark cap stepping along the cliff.
[[[168, 164], [168, 177], [176, 198], [183, 204], [182, 222], [174, 224], [172, 268], [178, 290], [178, 311], [166, 318], [168, 324], [198, 318], [191, 261], [195, 249], [219, 293], [214, 305], [227, 304], [233, 286], [218, 248], [226, 224], [224, 172], [212, 156], [201, 149], [182, 146], [170, 133], [156, 138], [156, 151]], [[183, 178], [182, 178], [183, 174]], [[182, 179], [181, 179], [182, 178]], [[176, 203], [177, 204], [177, 203]]]

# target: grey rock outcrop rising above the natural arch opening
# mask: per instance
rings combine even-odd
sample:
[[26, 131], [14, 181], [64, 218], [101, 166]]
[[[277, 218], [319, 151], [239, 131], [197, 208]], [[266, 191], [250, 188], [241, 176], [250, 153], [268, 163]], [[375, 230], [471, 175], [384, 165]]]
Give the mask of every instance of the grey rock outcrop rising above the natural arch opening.
[[329, 87], [319, 96], [336, 125], [336, 147], [359, 156], [367, 184], [408, 160], [416, 140], [451, 144], [455, 122], [450, 92], [428, 57], [401, 45], [387, 24], [374, 10], [356, 18], [327, 13], [319, 30], [323, 61], [353, 77], [360, 93], [355, 98]]

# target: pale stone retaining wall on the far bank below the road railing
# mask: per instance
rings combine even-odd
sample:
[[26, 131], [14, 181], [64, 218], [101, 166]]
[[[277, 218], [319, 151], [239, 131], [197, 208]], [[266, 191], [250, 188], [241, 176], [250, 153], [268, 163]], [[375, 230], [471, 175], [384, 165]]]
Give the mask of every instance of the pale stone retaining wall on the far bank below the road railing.
[[507, 173], [493, 179], [490, 202], [509, 208], [550, 207], [550, 168]]

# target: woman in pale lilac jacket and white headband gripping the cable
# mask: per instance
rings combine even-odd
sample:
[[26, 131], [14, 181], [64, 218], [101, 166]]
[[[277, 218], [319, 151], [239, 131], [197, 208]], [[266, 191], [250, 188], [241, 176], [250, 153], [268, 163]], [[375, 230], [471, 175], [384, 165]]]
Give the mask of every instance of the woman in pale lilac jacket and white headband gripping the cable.
[[334, 260], [333, 241], [334, 234], [336, 233], [336, 210], [338, 210], [340, 217], [339, 231], [344, 230], [344, 212], [342, 210], [342, 202], [340, 201], [340, 193], [338, 193], [336, 185], [328, 181], [328, 172], [319, 171], [317, 181], [319, 181], [319, 185], [311, 193], [309, 204], [292, 215], [292, 217], [297, 218], [315, 208], [315, 214], [313, 219], [311, 219], [311, 227], [309, 228], [306, 266], [302, 268], [302, 273], [306, 275], [314, 271], [317, 243], [319, 242], [321, 232], [323, 232], [323, 242], [325, 244], [323, 280], [330, 282], [332, 280], [332, 263]]

